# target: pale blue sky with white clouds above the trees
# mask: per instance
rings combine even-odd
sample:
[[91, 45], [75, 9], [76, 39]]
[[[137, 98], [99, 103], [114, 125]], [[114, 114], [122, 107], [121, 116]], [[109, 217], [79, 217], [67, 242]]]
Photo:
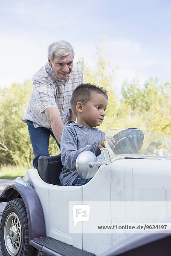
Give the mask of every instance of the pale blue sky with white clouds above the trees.
[[170, 0], [0, 0], [0, 89], [32, 79], [58, 40], [94, 67], [99, 38], [107, 38], [114, 88], [171, 81]]

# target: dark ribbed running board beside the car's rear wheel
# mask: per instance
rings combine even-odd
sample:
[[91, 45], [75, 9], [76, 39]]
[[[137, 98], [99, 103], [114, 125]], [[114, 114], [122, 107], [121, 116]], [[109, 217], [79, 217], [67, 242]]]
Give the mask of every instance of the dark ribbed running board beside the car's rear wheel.
[[51, 256], [94, 256], [95, 254], [65, 244], [51, 237], [32, 239], [29, 244]]

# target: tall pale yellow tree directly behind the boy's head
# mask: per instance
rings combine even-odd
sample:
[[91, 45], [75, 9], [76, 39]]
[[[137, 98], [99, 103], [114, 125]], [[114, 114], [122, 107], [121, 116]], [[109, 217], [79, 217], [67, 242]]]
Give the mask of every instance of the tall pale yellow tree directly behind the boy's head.
[[115, 79], [114, 69], [111, 69], [111, 62], [107, 58], [107, 41], [106, 38], [100, 38], [97, 44], [96, 62], [94, 67], [90, 67], [84, 63], [82, 58], [78, 64], [82, 67], [84, 73], [84, 83], [92, 83], [104, 87], [108, 91], [108, 105], [105, 111], [106, 116], [104, 122], [100, 125], [100, 129], [106, 131], [113, 127], [115, 123], [117, 105], [115, 92], [112, 88]]

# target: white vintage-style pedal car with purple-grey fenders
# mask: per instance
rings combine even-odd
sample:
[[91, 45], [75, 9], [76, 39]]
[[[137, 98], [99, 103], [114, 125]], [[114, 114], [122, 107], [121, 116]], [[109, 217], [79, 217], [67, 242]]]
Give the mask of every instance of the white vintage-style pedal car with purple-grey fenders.
[[134, 128], [105, 137], [99, 157], [77, 158], [86, 185], [60, 186], [60, 156], [41, 156], [3, 190], [3, 256], [171, 255], [171, 140]]

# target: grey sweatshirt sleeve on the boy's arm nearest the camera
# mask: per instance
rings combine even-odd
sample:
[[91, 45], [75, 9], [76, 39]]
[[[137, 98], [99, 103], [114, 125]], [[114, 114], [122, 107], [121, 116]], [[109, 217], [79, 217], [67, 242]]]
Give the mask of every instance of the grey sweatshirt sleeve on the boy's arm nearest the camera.
[[63, 166], [71, 171], [76, 170], [75, 162], [82, 151], [92, 151], [96, 156], [101, 154], [98, 147], [101, 140], [80, 149], [78, 149], [77, 141], [77, 134], [75, 133], [75, 130], [71, 130], [70, 126], [64, 128], [61, 134], [61, 160]]

